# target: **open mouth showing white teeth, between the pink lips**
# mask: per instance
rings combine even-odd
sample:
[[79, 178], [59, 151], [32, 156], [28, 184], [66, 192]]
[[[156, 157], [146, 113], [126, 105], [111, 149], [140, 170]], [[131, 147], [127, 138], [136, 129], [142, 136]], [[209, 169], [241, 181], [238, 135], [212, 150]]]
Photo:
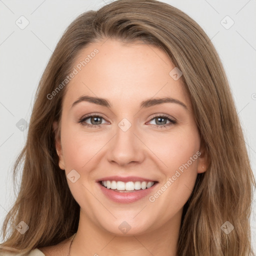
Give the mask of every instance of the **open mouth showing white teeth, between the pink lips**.
[[115, 192], [129, 193], [139, 190], [145, 190], [154, 186], [158, 181], [127, 181], [120, 180], [100, 180], [99, 184], [107, 189], [111, 189]]

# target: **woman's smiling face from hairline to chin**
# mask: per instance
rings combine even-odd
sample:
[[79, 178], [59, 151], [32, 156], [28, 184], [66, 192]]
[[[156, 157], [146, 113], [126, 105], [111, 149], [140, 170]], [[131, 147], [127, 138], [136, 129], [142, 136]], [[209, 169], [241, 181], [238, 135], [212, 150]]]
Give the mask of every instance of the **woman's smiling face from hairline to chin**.
[[74, 63], [56, 149], [83, 217], [119, 235], [180, 224], [206, 169], [180, 73], [157, 47], [110, 38]]

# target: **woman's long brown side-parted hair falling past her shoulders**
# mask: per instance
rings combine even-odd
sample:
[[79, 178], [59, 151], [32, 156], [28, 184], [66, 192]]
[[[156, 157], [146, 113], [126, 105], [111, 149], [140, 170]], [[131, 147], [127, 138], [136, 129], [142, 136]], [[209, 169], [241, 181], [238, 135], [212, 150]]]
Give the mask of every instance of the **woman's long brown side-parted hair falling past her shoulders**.
[[[183, 73], [180, 79], [192, 103], [208, 168], [197, 175], [184, 205], [178, 255], [254, 255], [249, 216], [255, 180], [221, 61], [194, 20], [156, 0], [114, 1], [82, 13], [63, 33], [39, 81], [27, 140], [14, 165], [16, 177], [23, 163], [22, 179], [3, 223], [0, 251], [25, 255], [76, 232], [79, 205], [58, 166], [52, 129], [60, 118], [65, 86], [53, 98], [47, 95], [65, 79], [81, 49], [107, 38], [155, 45]], [[15, 228], [20, 221], [29, 226], [24, 234]], [[234, 227], [229, 234], [221, 228], [226, 221]]]

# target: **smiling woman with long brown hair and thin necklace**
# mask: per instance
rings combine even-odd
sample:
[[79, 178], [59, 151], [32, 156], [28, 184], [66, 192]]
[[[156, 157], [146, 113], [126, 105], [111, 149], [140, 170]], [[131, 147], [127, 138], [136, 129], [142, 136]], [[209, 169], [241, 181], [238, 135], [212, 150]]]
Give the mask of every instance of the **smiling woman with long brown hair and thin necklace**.
[[255, 181], [223, 67], [166, 3], [117, 0], [68, 26], [22, 161], [1, 255], [254, 255]]

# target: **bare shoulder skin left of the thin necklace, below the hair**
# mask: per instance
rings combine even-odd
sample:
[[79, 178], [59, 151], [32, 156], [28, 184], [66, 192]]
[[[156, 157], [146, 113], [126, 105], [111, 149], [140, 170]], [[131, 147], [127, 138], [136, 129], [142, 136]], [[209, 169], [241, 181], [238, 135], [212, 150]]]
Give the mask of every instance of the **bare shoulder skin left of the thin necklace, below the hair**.
[[67, 238], [58, 244], [39, 247], [38, 249], [45, 254], [45, 256], [63, 256], [67, 255], [69, 251], [70, 238]]

